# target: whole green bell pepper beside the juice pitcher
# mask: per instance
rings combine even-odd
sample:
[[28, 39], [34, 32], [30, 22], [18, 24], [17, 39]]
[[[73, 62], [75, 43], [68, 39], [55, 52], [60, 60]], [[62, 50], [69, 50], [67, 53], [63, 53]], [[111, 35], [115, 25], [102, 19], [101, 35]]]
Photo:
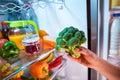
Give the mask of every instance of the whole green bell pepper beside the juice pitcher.
[[20, 50], [13, 41], [7, 41], [0, 49], [0, 55], [6, 60], [19, 56]]

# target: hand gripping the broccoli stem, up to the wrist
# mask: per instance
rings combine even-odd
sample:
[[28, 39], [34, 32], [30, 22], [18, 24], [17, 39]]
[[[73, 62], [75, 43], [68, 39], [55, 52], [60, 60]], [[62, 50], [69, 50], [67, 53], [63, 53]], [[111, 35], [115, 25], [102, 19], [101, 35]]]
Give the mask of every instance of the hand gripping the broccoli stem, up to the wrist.
[[68, 57], [71, 60], [76, 61], [90, 68], [95, 67], [95, 63], [97, 62], [96, 60], [99, 59], [99, 57], [97, 57], [95, 53], [93, 53], [92, 51], [90, 51], [89, 49], [85, 47], [76, 48], [75, 51], [78, 54], [81, 54], [81, 56], [80, 58], [73, 58], [72, 56], [68, 55]]

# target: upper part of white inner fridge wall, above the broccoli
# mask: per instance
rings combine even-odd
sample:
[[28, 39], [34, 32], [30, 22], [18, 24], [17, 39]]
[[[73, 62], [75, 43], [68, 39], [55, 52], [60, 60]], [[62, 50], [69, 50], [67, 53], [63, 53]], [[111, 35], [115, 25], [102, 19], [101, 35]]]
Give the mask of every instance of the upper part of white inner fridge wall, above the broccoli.
[[65, 4], [35, 3], [33, 8], [38, 17], [39, 28], [52, 36], [57, 36], [67, 26], [87, 31], [86, 0], [65, 0]]

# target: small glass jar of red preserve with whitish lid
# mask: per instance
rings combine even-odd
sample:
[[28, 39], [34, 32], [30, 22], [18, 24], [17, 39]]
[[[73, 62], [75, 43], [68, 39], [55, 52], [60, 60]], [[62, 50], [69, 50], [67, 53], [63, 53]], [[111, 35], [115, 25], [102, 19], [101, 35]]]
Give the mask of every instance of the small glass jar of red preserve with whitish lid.
[[25, 51], [28, 55], [36, 54], [40, 51], [40, 49], [42, 49], [40, 47], [40, 39], [38, 34], [25, 36], [22, 43], [25, 46]]

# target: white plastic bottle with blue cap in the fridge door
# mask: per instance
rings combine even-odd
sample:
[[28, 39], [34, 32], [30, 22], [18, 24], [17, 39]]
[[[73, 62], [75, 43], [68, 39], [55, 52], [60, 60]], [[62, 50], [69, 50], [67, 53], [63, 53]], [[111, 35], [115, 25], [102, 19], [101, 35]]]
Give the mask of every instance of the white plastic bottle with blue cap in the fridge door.
[[113, 13], [110, 29], [110, 51], [112, 56], [120, 55], [120, 13]]

